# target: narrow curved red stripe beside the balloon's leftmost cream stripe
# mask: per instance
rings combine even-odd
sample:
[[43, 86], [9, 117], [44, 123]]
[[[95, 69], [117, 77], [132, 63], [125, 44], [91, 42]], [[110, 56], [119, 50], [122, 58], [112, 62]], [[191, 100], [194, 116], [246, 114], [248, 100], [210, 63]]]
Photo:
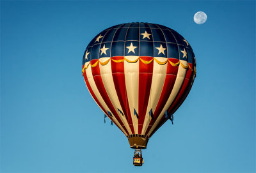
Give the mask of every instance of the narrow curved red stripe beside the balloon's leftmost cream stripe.
[[[96, 61], [98, 61], [98, 59], [93, 59], [91, 61], [91, 64], [94, 64]], [[99, 63], [97, 64], [97, 66], [92, 68], [92, 75], [93, 75], [94, 82], [95, 82], [95, 84], [96, 84], [96, 86], [97, 86], [97, 88], [100, 92], [100, 95], [104, 99], [104, 102], [106, 102], [106, 105], [108, 105], [110, 111], [113, 113], [113, 116], [116, 117], [117, 121], [124, 128], [125, 132], [127, 134], [129, 134], [129, 132], [125, 128], [123, 122], [121, 121], [120, 117], [118, 116], [118, 113], [116, 112], [117, 108], [115, 109], [115, 107], [113, 107], [113, 104], [111, 103], [111, 100], [109, 99], [108, 93], [107, 93], [107, 91], [104, 87], [104, 84], [103, 84], [103, 81], [102, 81], [102, 78], [101, 78]], [[113, 88], [113, 89], [115, 89], [115, 88]]]

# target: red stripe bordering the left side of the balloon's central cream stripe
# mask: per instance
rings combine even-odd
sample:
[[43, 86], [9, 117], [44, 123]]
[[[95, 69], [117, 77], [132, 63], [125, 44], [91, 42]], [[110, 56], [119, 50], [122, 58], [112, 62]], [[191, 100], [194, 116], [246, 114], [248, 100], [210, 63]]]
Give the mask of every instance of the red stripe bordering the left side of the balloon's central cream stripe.
[[[120, 59], [124, 59], [124, 57], [112, 57], [112, 59], [120, 60]], [[134, 127], [132, 124], [131, 111], [129, 107], [126, 86], [125, 86], [124, 62], [115, 63], [114, 61], [111, 61], [111, 69], [112, 69], [112, 76], [113, 76], [113, 81], [115, 84], [115, 90], [118, 96], [118, 100], [120, 102], [122, 110], [124, 111], [123, 112], [124, 116], [127, 122], [129, 123], [129, 127], [131, 128], [131, 131], [134, 134]]]

